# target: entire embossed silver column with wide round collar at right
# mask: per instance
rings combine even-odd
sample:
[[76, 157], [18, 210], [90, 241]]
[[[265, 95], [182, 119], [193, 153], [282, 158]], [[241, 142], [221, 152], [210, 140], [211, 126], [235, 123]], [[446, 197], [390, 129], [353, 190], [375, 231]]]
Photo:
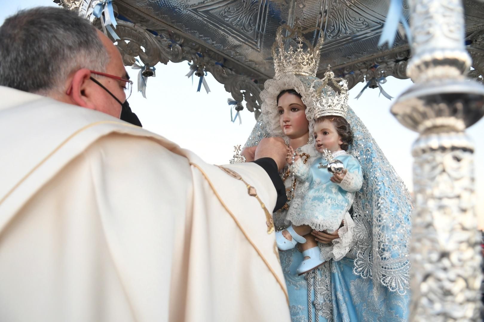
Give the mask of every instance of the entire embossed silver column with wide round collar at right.
[[464, 130], [484, 113], [484, 87], [466, 80], [459, 0], [410, 0], [415, 83], [392, 113], [420, 133], [412, 148], [411, 321], [480, 321], [480, 236], [474, 213], [474, 146]]

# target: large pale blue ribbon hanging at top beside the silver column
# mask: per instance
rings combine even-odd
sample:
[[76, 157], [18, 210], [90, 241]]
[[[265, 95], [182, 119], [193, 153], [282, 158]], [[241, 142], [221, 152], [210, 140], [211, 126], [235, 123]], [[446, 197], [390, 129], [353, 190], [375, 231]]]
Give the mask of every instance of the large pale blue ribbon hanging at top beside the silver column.
[[390, 0], [390, 7], [388, 8], [387, 18], [383, 29], [381, 30], [380, 40], [378, 41], [378, 47], [388, 42], [388, 48], [393, 47], [395, 42], [396, 31], [399, 24], [402, 24], [404, 30], [400, 33], [407, 35], [408, 43], [412, 42], [410, 28], [408, 27], [407, 20], [403, 15], [403, 0]]

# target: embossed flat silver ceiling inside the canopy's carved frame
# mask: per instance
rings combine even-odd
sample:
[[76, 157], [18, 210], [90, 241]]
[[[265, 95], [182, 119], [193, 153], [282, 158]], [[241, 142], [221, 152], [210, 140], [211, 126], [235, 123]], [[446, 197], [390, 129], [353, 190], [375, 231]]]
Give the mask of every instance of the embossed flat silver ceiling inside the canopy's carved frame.
[[[325, 30], [320, 69], [381, 54], [378, 36], [386, 0], [123, 0], [119, 13], [155, 30], [160, 23], [191, 36], [227, 59], [273, 76], [271, 46], [278, 26], [295, 19]], [[326, 19], [327, 17], [327, 19]], [[316, 35], [318, 36], [318, 35]], [[314, 37], [313, 37], [314, 39]], [[397, 35], [395, 47], [405, 41]], [[406, 49], [406, 48], [405, 48]]]

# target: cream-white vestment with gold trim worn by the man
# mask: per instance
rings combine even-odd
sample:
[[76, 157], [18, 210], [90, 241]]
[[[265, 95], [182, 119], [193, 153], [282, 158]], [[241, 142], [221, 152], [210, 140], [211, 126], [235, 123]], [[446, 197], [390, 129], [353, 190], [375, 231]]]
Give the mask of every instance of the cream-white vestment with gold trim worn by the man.
[[[104, 113], [0, 97], [0, 321], [290, 321], [244, 182]], [[227, 168], [272, 212], [263, 168]]]

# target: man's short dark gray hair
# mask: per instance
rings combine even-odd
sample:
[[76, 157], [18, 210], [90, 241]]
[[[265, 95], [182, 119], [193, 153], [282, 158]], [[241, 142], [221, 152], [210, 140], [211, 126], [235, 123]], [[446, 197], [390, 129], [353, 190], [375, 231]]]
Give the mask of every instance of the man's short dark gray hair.
[[75, 12], [22, 10], [0, 27], [0, 85], [48, 95], [65, 91], [81, 68], [105, 71], [109, 62], [96, 28]]

